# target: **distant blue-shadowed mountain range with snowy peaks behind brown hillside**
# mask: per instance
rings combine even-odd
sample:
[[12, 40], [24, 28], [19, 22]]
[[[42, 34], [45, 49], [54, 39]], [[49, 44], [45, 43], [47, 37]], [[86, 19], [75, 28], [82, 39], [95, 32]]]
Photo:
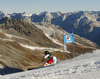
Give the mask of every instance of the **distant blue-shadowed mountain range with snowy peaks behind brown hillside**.
[[[26, 14], [26, 13], [25, 13]], [[29, 14], [28, 14], [29, 15]], [[89, 39], [100, 45], [100, 11], [75, 11], [69, 13], [62, 12], [41, 12], [25, 16], [23, 13], [11, 14], [10, 17], [26, 20], [28, 22], [47, 22], [59, 25], [62, 29]]]

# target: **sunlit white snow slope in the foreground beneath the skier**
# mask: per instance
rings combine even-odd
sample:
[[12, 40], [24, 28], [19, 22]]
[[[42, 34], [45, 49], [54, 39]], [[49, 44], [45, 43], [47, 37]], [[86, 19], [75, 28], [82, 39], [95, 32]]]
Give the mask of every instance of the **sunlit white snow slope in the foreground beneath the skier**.
[[0, 75], [0, 79], [100, 79], [99, 73], [100, 50], [94, 50], [55, 66]]

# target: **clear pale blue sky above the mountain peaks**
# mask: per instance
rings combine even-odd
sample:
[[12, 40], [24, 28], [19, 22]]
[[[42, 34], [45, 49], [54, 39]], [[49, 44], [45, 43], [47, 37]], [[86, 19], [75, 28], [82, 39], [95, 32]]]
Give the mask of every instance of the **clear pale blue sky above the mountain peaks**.
[[0, 0], [4, 13], [100, 11], [100, 0]]

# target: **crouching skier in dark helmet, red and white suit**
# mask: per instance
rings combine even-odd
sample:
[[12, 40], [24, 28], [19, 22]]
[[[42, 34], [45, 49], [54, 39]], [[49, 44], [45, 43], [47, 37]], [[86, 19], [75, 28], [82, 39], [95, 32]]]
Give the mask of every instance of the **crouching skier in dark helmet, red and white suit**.
[[45, 56], [43, 57], [42, 62], [46, 59], [49, 58], [49, 60], [44, 64], [44, 66], [50, 65], [50, 64], [56, 64], [57, 63], [57, 58], [53, 56], [49, 51], [45, 51]]

